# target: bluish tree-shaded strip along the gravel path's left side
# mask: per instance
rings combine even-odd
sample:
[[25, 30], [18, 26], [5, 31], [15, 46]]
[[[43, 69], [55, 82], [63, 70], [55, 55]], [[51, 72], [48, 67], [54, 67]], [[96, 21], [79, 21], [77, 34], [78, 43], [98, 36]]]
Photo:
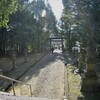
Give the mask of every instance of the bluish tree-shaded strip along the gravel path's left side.
[[26, 77], [22, 77], [20, 80], [24, 82], [28, 82], [31, 80], [32, 77], [37, 77], [41, 71], [43, 71], [47, 66], [52, 66], [54, 63], [57, 63], [58, 60], [63, 61], [63, 57], [61, 53], [54, 52], [53, 54], [49, 53], [45, 56], [45, 61], [43, 59], [40, 60], [39, 63], [36, 63], [34, 66], [31, 67], [29, 72], [31, 76], [26, 72]]

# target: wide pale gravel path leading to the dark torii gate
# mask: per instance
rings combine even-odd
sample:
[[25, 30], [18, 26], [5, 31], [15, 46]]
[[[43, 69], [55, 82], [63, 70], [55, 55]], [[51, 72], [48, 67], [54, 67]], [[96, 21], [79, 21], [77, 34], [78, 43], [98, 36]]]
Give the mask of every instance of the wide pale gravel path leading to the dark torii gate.
[[[59, 51], [46, 55], [33, 66], [21, 79], [32, 85], [33, 97], [59, 99], [64, 93], [64, 64]], [[17, 84], [17, 95], [29, 94], [29, 87]], [[12, 90], [10, 91], [12, 92]]]

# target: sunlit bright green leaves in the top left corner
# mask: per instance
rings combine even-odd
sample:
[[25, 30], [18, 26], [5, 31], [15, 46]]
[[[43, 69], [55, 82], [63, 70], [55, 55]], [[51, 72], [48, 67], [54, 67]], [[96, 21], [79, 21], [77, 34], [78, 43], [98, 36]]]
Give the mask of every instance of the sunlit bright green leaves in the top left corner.
[[0, 27], [8, 28], [9, 15], [17, 10], [17, 0], [0, 0]]

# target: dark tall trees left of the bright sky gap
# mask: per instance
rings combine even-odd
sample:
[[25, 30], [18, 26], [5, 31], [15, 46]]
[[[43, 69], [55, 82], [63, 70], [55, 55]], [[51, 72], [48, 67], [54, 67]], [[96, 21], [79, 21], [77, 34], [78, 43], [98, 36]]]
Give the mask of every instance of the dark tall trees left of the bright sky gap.
[[[31, 3], [28, 0], [0, 2], [2, 8], [9, 12], [2, 13], [3, 9], [0, 9], [0, 18], [5, 15], [0, 19], [0, 54], [12, 50], [21, 53], [24, 49], [28, 52], [46, 49], [46, 39], [52, 32], [56, 34], [58, 31], [49, 3], [45, 4], [44, 0], [33, 0]], [[46, 14], [42, 15], [43, 12]]]

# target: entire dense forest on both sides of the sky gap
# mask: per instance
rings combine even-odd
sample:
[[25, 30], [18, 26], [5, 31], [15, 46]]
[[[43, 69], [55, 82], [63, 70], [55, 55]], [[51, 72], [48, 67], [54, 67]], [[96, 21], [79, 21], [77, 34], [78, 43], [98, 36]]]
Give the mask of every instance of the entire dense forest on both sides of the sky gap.
[[[62, 0], [59, 22], [45, 0], [0, 1], [0, 54], [40, 52], [49, 48], [50, 34], [66, 38], [66, 48], [80, 48], [90, 58], [100, 55], [100, 1]], [[44, 13], [44, 15], [43, 15]]]

